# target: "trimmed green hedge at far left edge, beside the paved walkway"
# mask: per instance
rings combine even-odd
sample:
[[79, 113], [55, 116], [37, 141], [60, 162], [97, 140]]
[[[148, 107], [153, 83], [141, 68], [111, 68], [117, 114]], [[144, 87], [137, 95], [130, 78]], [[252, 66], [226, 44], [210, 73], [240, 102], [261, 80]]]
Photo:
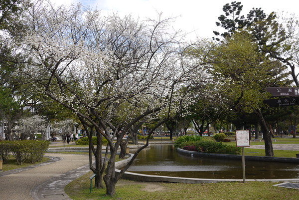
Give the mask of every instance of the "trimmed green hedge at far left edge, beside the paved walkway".
[[8, 162], [10, 154], [16, 159], [18, 165], [26, 160], [36, 163], [42, 160], [49, 144], [48, 141], [42, 140], [0, 141], [0, 157], [4, 164]]

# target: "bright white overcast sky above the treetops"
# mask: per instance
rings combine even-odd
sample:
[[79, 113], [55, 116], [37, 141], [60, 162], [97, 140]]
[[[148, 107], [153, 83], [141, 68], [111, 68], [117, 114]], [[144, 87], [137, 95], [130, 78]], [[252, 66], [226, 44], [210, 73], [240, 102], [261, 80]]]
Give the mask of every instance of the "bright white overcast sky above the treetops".
[[[174, 29], [182, 29], [190, 39], [212, 37], [213, 30], [220, 30], [215, 22], [223, 14], [222, 7], [233, 0], [51, 0], [55, 4], [81, 2], [93, 8], [118, 12], [120, 15], [132, 14], [141, 19], [156, 18], [157, 12], [163, 16], [178, 16], [173, 24]], [[262, 8], [267, 14], [271, 11], [284, 11], [298, 14], [299, 0], [242, 0], [242, 15], [247, 15], [253, 7]]]

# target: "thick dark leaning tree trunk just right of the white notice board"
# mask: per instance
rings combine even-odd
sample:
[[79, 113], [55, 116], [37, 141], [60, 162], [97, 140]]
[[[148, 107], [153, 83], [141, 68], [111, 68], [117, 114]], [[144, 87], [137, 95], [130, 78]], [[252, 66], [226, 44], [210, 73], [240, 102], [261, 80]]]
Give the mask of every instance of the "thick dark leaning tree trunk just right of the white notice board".
[[261, 110], [257, 109], [255, 113], [259, 117], [259, 121], [260, 121], [260, 124], [261, 124], [261, 129], [262, 129], [262, 132], [263, 132], [263, 138], [265, 140], [265, 154], [266, 154], [266, 156], [273, 157], [274, 152], [273, 152], [271, 134], [270, 134], [270, 131], [268, 129], [267, 122], [265, 121]]

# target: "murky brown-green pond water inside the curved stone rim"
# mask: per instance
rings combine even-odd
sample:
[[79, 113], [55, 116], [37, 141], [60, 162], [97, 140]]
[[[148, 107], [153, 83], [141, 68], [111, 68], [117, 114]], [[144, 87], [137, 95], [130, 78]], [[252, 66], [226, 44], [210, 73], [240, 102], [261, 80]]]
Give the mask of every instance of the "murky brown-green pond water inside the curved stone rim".
[[[246, 179], [299, 178], [299, 164], [246, 161], [245, 165]], [[144, 149], [128, 172], [200, 179], [243, 179], [241, 160], [180, 155], [168, 144]]]

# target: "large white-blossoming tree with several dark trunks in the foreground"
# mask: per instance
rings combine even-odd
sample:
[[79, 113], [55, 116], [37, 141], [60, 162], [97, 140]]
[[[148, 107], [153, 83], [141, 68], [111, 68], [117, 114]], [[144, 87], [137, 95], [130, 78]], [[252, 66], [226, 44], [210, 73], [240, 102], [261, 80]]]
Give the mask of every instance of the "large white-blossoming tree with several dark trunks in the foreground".
[[[41, 95], [77, 115], [89, 137], [96, 188], [103, 187], [110, 152], [103, 179], [106, 195], [113, 196], [117, 181], [148, 146], [147, 142], [116, 175], [114, 159], [124, 134], [142, 120], [166, 113], [156, 123], [158, 127], [171, 118], [172, 110], [190, 104], [188, 90], [182, 95], [181, 88], [200, 83], [199, 72], [190, 65], [183, 67], [179, 34], [166, 31], [171, 19], [161, 15], [157, 20], [139, 21], [83, 10], [80, 5], [55, 8], [37, 3], [27, 17], [28, 34], [16, 38], [19, 51], [27, 58], [19, 73]], [[112, 137], [108, 128], [115, 130]], [[96, 148], [91, 142], [93, 134], [97, 136]], [[108, 141], [104, 161], [103, 137]]]

